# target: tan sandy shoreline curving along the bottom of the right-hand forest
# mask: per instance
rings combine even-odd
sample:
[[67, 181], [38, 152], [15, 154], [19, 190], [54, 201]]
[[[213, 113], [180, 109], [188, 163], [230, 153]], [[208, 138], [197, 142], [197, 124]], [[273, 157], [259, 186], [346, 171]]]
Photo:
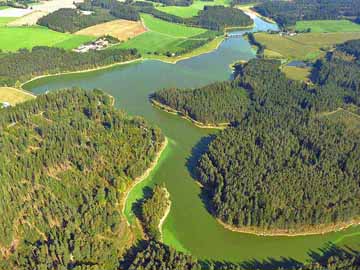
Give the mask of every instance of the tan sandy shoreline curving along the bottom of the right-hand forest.
[[316, 225], [316, 226], [309, 226], [308, 231], [300, 231], [300, 230], [294, 230], [291, 232], [290, 230], [262, 230], [255, 227], [235, 227], [233, 225], [226, 224], [219, 218], [215, 218], [216, 221], [223, 226], [226, 230], [237, 232], [237, 233], [244, 233], [244, 234], [251, 234], [256, 236], [284, 236], [284, 237], [297, 237], [297, 236], [311, 236], [311, 235], [323, 235], [333, 232], [339, 232], [343, 231], [345, 229], [348, 229], [352, 226], [359, 226], [360, 225], [360, 218], [353, 219], [349, 222], [341, 222], [338, 224], [331, 224], [331, 225]]

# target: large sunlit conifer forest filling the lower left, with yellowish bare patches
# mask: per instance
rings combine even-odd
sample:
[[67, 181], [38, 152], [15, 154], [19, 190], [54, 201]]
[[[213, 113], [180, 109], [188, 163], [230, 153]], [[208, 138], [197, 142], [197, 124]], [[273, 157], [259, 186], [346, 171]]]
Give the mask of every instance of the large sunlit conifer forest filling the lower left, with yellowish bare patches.
[[119, 205], [164, 142], [101, 91], [69, 89], [0, 110], [0, 269], [117, 269]]

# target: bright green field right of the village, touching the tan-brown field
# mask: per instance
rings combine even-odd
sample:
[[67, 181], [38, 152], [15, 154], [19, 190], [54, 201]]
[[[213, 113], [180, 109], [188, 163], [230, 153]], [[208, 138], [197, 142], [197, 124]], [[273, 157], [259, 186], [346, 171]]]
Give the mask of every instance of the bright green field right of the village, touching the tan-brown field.
[[142, 54], [173, 52], [181, 48], [181, 44], [207, 30], [165, 22], [151, 15], [141, 16], [147, 32], [118, 45], [120, 48], [136, 48]]

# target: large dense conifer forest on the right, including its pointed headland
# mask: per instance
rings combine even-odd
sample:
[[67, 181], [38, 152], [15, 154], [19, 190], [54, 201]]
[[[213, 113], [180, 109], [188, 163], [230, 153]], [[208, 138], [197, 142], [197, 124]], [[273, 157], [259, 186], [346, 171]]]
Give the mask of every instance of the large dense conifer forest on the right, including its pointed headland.
[[[231, 82], [153, 95], [195, 120], [231, 122], [196, 169], [209, 208], [227, 227], [297, 235], [360, 222], [360, 132], [337, 114], [359, 112], [359, 44], [341, 44], [318, 61], [313, 84], [289, 80], [278, 61], [254, 59], [236, 65]], [[246, 102], [234, 102], [239, 95]]]

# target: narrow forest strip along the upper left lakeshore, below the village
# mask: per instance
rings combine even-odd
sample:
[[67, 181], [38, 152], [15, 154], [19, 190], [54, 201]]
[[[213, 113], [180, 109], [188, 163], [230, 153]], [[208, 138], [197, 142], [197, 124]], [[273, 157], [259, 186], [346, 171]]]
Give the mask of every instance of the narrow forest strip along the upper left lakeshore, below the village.
[[139, 58], [136, 49], [76, 53], [58, 48], [34, 47], [1, 55], [0, 86], [13, 86], [36, 76], [80, 71]]

